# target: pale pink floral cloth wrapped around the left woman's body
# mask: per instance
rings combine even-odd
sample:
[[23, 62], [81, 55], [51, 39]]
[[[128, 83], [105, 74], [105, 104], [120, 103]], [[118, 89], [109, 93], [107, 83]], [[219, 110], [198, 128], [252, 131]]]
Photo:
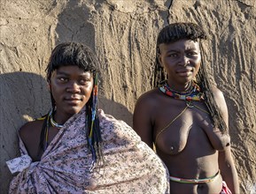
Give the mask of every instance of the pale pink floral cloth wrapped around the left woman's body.
[[[167, 168], [159, 157], [127, 123], [102, 110], [99, 119], [105, 162], [92, 168], [84, 114], [82, 110], [65, 123], [41, 161], [30, 163], [12, 179], [9, 193], [169, 192]], [[19, 146], [21, 155], [26, 155], [21, 140]]]

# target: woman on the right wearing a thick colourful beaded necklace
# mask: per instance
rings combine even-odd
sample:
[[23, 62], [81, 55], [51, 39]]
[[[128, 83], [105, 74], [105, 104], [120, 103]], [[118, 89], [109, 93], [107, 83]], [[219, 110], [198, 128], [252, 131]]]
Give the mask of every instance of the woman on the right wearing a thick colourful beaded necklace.
[[228, 108], [207, 78], [203, 39], [193, 23], [159, 32], [155, 88], [136, 102], [134, 130], [167, 165], [171, 193], [238, 193]]

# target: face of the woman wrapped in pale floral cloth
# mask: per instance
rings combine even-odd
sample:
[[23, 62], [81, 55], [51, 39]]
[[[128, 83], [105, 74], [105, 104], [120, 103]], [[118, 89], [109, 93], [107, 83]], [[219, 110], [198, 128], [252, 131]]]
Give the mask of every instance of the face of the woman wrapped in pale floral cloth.
[[56, 115], [68, 119], [89, 101], [93, 88], [93, 74], [78, 66], [62, 66], [53, 71], [50, 89], [56, 102]]

